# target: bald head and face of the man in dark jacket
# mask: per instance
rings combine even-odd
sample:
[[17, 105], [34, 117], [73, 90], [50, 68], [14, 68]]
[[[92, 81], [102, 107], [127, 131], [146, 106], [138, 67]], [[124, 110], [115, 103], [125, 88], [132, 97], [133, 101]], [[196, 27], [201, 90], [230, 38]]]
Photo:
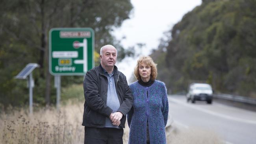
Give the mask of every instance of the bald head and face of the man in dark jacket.
[[108, 46], [102, 50], [100, 55], [103, 67], [113, 67], [117, 61], [117, 50], [113, 46]]

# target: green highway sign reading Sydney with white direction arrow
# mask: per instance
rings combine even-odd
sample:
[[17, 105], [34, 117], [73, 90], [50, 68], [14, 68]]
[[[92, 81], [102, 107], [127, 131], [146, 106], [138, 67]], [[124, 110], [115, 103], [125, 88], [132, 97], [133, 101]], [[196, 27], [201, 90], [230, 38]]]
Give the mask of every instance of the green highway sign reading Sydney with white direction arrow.
[[52, 75], [85, 75], [94, 67], [91, 28], [52, 28], [49, 32], [49, 71]]

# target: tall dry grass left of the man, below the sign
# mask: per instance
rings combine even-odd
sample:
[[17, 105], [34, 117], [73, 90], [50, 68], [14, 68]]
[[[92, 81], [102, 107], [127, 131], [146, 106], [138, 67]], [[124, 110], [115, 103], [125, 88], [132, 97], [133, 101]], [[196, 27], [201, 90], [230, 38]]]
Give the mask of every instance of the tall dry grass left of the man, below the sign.
[[82, 144], [82, 103], [40, 110], [13, 111], [0, 115], [0, 144]]

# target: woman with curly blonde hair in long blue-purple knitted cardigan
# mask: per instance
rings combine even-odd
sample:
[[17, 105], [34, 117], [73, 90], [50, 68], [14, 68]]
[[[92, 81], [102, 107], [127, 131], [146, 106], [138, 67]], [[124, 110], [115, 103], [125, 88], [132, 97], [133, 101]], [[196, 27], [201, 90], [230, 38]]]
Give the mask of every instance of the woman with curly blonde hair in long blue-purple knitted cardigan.
[[140, 57], [134, 69], [138, 81], [130, 84], [134, 104], [127, 114], [129, 144], [165, 144], [168, 99], [165, 84], [157, 81], [156, 64], [151, 57]]

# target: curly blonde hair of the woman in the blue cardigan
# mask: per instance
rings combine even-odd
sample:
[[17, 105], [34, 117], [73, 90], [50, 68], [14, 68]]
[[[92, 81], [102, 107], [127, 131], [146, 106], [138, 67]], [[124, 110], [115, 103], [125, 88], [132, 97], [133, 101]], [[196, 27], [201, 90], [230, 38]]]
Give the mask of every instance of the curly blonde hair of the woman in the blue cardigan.
[[154, 63], [153, 59], [150, 56], [142, 56], [137, 60], [137, 65], [134, 68], [134, 76], [137, 78], [137, 80], [141, 80], [141, 76], [139, 75], [139, 65], [141, 63], [144, 63], [150, 66], [151, 68], [150, 79], [155, 80], [157, 76], [157, 68], [156, 68], [157, 64]]

